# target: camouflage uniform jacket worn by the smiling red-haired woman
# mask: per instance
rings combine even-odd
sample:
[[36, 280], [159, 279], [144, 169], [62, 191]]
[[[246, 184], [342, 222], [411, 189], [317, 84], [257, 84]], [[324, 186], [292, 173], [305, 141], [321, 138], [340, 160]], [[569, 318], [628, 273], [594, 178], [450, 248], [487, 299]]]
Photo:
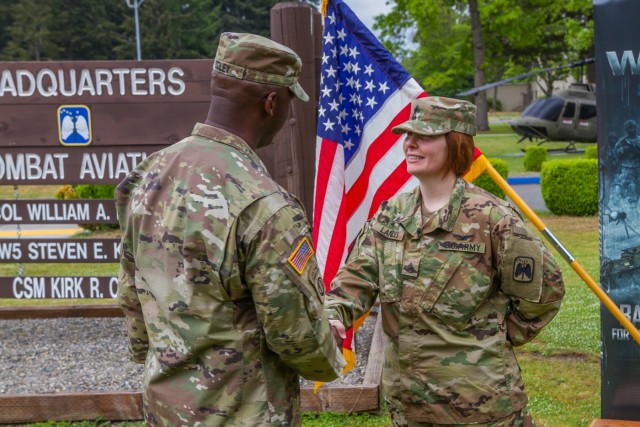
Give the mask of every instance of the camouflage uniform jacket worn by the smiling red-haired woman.
[[512, 347], [558, 312], [560, 269], [511, 207], [462, 178], [428, 219], [421, 205], [419, 188], [382, 203], [332, 283], [329, 318], [351, 327], [379, 296], [392, 414], [438, 424], [511, 416], [527, 404]]

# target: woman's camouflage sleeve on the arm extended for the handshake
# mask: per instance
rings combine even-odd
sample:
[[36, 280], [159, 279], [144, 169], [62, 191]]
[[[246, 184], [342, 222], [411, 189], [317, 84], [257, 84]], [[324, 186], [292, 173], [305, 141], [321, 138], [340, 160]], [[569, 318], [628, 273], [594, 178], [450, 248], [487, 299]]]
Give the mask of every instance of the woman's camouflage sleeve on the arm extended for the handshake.
[[376, 236], [366, 223], [356, 239], [347, 261], [338, 270], [327, 295], [327, 316], [339, 319], [348, 329], [366, 314], [378, 297], [380, 271]]

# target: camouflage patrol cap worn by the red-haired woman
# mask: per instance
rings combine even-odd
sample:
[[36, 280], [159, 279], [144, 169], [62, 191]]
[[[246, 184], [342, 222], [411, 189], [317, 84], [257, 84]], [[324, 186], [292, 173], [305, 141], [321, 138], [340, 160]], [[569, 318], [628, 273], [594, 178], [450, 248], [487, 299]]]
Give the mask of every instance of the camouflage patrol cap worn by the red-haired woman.
[[393, 133], [442, 135], [451, 131], [476, 134], [476, 106], [469, 101], [429, 96], [411, 103], [411, 118], [394, 127]]

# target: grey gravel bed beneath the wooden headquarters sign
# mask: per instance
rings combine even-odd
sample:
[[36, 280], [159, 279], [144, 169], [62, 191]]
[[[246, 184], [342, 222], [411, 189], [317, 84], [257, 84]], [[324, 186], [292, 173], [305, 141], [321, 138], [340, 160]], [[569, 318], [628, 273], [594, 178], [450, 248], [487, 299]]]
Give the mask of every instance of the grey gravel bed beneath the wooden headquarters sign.
[[[357, 366], [330, 385], [361, 383], [375, 319], [356, 332]], [[122, 318], [0, 320], [0, 393], [140, 390], [142, 365], [126, 354]]]

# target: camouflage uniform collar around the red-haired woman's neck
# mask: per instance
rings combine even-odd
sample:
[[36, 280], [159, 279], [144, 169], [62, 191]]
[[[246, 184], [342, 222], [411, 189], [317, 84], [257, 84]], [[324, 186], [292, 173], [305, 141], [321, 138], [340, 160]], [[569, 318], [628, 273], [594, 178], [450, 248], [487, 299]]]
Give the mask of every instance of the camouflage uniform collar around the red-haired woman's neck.
[[458, 218], [458, 214], [460, 213], [460, 206], [462, 205], [462, 198], [466, 189], [467, 182], [460, 177], [457, 178], [453, 192], [449, 197], [449, 203], [438, 209], [426, 224], [422, 224], [422, 195], [420, 193], [420, 186], [417, 186], [409, 196], [408, 206], [411, 206], [411, 208], [408, 210], [406, 216], [398, 218], [398, 222], [407, 233], [413, 237], [417, 237], [420, 232], [430, 233], [436, 228], [452, 232], [456, 218]]

